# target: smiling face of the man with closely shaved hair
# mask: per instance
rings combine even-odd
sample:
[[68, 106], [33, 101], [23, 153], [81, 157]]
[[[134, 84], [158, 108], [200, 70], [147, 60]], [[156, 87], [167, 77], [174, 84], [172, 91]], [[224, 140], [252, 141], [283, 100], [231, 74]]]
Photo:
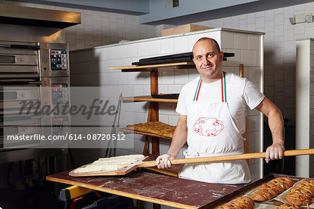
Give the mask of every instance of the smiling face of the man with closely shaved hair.
[[214, 82], [221, 78], [223, 52], [218, 52], [214, 41], [203, 40], [195, 43], [193, 62], [204, 82]]

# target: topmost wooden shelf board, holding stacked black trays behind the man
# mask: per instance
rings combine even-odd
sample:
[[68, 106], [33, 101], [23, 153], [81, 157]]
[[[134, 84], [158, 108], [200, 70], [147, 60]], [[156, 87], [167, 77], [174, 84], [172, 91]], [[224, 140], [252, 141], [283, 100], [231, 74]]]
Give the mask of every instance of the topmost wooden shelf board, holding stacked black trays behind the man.
[[186, 68], [187, 66], [195, 66], [193, 62], [173, 62], [173, 63], [165, 63], [165, 64], [150, 64], [150, 65], [142, 65], [142, 66], [111, 66], [107, 67], [108, 70], [123, 70], [124, 72], [132, 72], [132, 71], [150, 71], [149, 69], [159, 69], [159, 68], [167, 68], [170, 66], [176, 66], [177, 69]]

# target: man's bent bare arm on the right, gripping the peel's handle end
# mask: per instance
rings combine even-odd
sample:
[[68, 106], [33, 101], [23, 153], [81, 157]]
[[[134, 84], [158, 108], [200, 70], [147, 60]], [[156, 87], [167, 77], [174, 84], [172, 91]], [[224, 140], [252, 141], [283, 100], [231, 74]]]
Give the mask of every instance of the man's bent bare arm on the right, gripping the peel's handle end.
[[273, 138], [273, 144], [267, 147], [265, 160], [268, 163], [271, 159], [283, 158], [285, 147], [283, 142], [283, 115], [281, 115], [281, 111], [267, 97], [255, 109], [260, 110], [268, 117], [269, 129]]

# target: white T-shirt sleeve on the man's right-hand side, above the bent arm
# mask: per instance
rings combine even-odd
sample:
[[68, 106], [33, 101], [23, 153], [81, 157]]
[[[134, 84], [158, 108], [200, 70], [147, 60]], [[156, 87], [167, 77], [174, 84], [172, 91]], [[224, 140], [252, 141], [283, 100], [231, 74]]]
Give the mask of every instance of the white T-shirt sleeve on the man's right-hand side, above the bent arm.
[[244, 101], [246, 105], [253, 110], [256, 108], [264, 99], [264, 94], [251, 82], [246, 79], [246, 85], [244, 87]]

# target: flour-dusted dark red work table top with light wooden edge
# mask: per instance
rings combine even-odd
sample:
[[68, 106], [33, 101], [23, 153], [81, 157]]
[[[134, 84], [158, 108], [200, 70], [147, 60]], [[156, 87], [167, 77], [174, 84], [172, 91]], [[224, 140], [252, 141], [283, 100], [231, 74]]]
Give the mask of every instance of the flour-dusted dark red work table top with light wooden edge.
[[110, 177], [71, 177], [68, 173], [50, 175], [47, 180], [177, 208], [208, 206], [241, 188], [135, 171]]

